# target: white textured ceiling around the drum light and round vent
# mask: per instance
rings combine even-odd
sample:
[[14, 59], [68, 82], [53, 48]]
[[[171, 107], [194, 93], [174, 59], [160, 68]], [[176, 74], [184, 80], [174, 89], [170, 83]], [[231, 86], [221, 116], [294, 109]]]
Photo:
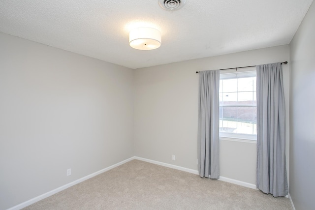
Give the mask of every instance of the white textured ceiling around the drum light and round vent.
[[[289, 44], [313, 0], [0, 0], [0, 31], [129, 68]], [[140, 51], [128, 32], [154, 27], [162, 45]]]

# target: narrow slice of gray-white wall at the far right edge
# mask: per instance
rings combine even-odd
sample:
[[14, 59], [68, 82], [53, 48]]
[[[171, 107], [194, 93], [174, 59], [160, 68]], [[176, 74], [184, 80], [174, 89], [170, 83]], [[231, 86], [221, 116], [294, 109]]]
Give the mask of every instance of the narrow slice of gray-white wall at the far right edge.
[[297, 210], [314, 210], [315, 3], [290, 43], [290, 188]]

